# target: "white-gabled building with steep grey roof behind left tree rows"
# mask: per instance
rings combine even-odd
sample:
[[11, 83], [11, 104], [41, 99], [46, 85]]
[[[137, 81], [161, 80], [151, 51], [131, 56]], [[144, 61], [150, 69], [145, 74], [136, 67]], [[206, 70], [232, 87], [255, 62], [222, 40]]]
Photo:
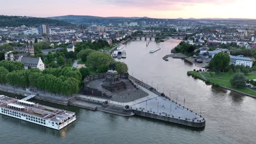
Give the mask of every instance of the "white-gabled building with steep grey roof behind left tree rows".
[[40, 57], [22, 57], [20, 62], [24, 63], [25, 69], [38, 68], [39, 70], [44, 70], [44, 63]]

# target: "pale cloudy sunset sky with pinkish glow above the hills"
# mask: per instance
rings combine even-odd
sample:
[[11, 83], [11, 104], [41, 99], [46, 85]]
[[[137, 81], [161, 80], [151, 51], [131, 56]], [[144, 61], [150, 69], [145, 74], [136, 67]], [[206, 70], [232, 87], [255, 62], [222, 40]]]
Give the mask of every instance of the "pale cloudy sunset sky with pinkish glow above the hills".
[[0, 15], [256, 19], [254, 0], [0, 0]]

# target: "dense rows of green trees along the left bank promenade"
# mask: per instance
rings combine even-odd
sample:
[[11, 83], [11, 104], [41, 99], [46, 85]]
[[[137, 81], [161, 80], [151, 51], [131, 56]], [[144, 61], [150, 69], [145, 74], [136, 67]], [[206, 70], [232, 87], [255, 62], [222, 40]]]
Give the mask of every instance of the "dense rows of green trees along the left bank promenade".
[[39, 69], [9, 71], [0, 67], [0, 83], [14, 87], [36, 87], [41, 91], [48, 91], [54, 94], [64, 94], [70, 96], [79, 91], [79, 83], [82, 75], [79, 70], [71, 68], [49, 68], [43, 71]]

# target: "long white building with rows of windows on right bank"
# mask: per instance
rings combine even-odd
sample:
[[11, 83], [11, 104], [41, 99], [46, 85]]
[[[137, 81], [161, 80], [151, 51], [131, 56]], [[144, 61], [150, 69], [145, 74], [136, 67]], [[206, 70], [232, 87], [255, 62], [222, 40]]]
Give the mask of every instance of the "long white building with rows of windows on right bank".
[[243, 57], [243, 56], [230, 56], [230, 64], [234, 65], [243, 65], [245, 67], [252, 68], [253, 65], [253, 60], [248, 57]]

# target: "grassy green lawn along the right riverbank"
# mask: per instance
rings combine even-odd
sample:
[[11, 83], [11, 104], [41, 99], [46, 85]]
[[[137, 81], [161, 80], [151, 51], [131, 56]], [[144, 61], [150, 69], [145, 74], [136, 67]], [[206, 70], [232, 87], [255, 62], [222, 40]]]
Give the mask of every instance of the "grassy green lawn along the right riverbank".
[[[243, 92], [243, 93], [248, 93], [248, 94], [252, 94], [256, 96], [256, 92], [254, 92], [252, 89], [249, 88], [234, 88], [231, 86], [231, 83], [229, 82], [229, 80], [235, 75], [235, 73], [229, 74], [229, 73], [221, 73], [220, 76], [215, 75], [214, 73], [212, 73], [213, 76], [211, 77], [210, 73], [208, 72], [204, 72], [203, 75], [205, 75], [205, 77], [208, 77], [207, 80], [210, 80], [213, 83], [218, 83], [221, 86], [225, 86], [228, 88], [232, 88], [235, 89], [237, 91]], [[256, 79], [256, 74], [255, 73], [251, 73], [248, 74], [246, 76], [247, 79]]]

